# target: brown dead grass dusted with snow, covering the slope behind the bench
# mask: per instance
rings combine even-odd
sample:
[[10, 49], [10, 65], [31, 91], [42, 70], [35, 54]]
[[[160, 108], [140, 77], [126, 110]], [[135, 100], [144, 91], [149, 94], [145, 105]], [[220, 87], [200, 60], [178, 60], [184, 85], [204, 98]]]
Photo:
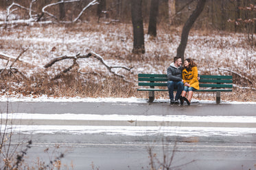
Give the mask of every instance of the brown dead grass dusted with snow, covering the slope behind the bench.
[[[23, 57], [21, 59], [30, 64], [15, 64], [15, 67], [27, 76], [27, 80], [13, 75], [2, 75], [0, 80], [1, 94], [148, 98], [147, 92], [137, 91], [137, 74], [140, 72], [164, 74], [167, 66], [172, 62], [173, 56], [176, 55], [180, 34], [181, 27], [159, 27], [157, 38], [145, 36], [146, 53], [133, 55], [131, 53], [132, 27], [129, 24], [81, 23], [72, 26], [47, 25], [3, 30], [0, 33], [0, 37], [3, 37], [0, 38], [0, 50], [15, 57], [21, 53], [21, 48], [29, 47], [29, 50], [24, 54], [24, 59]], [[256, 68], [256, 58], [251, 53], [245, 52], [253, 51], [255, 47], [246, 44], [246, 36], [226, 32], [211, 33], [206, 30], [192, 30], [190, 34], [185, 51], [188, 54], [186, 57], [192, 57], [196, 60], [200, 74], [227, 74], [234, 77], [233, 81], [237, 87], [233, 88], [231, 93], [222, 93], [222, 100], [256, 101], [254, 89], [238, 88], [255, 88], [256, 75], [253, 70]], [[44, 39], [40, 39], [41, 36]], [[240, 41], [233, 41], [237, 37]], [[53, 38], [55, 41], [48, 42], [46, 41], [47, 38]], [[209, 50], [206, 51], [205, 48], [209, 48]], [[230, 48], [232, 50], [226, 52]], [[106, 68], [100, 66], [100, 63], [92, 59], [80, 61], [80, 66], [84, 72], [98, 72], [98, 74], [77, 74], [73, 70], [64, 74], [60, 79], [52, 81], [53, 76], [70, 66], [71, 61], [58, 63], [47, 70], [41, 67], [54, 57], [74, 54], [78, 51], [82, 54], [95, 51], [102, 55], [106, 61], [112, 63], [111, 65], [118, 63], [133, 67], [131, 72], [117, 70], [117, 72], [124, 74], [130, 83], [113, 76]], [[230, 53], [232, 57], [225, 53]], [[234, 54], [235, 56], [233, 56]], [[5, 66], [5, 63], [6, 61], [2, 61], [2, 66]], [[218, 68], [235, 71], [240, 76], [218, 70]], [[33, 74], [28, 74], [28, 72], [33, 72]], [[248, 80], [253, 83], [248, 82]], [[249, 97], [248, 94], [250, 94]], [[167, 92], [157, 92], [155, 97], [168, 98], [168, 94]], [[195, 98], [215, 100], [214, 94], [209, 96], [200, 93], [195, 95]]]

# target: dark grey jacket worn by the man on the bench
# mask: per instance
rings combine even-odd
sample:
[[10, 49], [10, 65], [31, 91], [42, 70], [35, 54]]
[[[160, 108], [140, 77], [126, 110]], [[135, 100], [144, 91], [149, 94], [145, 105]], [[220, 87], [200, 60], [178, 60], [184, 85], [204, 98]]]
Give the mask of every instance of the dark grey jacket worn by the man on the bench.
[[168, 81], [182, 81], [182, 67], [176, 68], [174, 63], [171, 63], [169, 68], [167, 68], [167, 78]]

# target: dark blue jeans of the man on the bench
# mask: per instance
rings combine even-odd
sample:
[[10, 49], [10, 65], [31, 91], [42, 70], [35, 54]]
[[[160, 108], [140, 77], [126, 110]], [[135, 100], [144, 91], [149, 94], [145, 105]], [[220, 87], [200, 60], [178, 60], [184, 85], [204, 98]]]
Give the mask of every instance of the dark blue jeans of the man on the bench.
[[178, 100], [183, 91], [183, 82], [182, 81], [168, 81], [167, 87], [169, 89], [170, 100], [174, 99], [174, 89], [177, 89], [175, 100]]

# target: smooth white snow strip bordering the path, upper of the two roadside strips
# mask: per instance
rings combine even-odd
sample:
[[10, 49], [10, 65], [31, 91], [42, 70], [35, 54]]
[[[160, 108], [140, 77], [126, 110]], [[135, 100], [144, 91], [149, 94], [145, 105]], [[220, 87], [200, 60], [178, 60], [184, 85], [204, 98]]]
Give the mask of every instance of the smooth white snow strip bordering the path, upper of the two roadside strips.
[[1, 117], [8, 119], [54, 119], [54, 120], [104, 120], [104, 121], [146, 121], [146, 122], [225, 122], [225, 123], [255, 123], [256, 116], [189, 116], [189, 115], [95, 115], [95, 114], [47, 114], [40, 113], [2, 113]]

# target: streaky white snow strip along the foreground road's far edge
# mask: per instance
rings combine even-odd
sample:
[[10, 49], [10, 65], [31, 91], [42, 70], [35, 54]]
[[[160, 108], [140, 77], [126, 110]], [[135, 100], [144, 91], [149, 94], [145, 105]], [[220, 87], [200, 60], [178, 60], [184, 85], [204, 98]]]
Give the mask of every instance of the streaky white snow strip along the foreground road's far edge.
[[[20, 125], [8, 127], [19, 134], [108, 134], [128, 136], [164, 135], [180, 137], [243, 136], [250, 137], [256, 128], [216, 128], [216, 127], [181, 127], [181, 126], [33, 126]], [[2, 127], [3, 130], [3, 127]]]

